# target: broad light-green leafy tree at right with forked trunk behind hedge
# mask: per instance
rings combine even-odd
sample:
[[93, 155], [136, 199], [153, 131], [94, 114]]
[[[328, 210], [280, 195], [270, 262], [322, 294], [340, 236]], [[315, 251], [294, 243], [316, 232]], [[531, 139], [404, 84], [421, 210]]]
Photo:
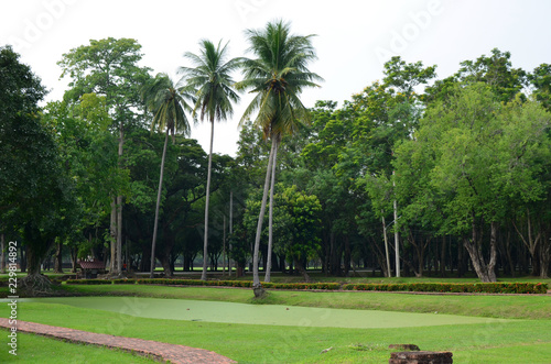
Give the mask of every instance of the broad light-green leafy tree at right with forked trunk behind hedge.
[[[433, 104], [415, 139], [397, 151], [399, 185], [415, 195], [412, 212], [432, 218], [441, 234], [463, 236], [478, 277], [495, 282], [497, 234], [508, 209], [540, 199], [544, 190], [542, 165], [534, 162], [548, 153], [549, 114], [520, 98], [503, 104], [485, 84], [457, 87], [453, 95]], [[433, 191], [408, 181], [412, 174]], [[431, 208], [440, 213], [426, 213]]]

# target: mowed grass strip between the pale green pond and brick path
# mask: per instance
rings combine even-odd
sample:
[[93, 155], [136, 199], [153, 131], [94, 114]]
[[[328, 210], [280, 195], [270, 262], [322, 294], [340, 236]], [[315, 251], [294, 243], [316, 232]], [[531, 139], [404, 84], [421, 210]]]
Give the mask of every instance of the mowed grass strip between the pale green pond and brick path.
[[[6, 315], [7, 310], [2, 308], [0, 312]], [[142, 319], [95, 309], [31, 302], [20, 304], [19, 318], [203, 348], [239, 363], [382, 363], [388, 361], [390, 351], [387, 348], [392, 343], [414, 343], [423, 350], [452, 351], [458, 363], [545, 363], [541, 359], [551, 357], [549, 320], [401, 329], [336, 329]], [[82, 348], [75, 348], [67, 355], [78, 354]], [[25, 349], [21, 348], [21, 351]], [[46, 356], [51, 353], [47, 344], [32, 349], [33, 354], [42, 351]]]

